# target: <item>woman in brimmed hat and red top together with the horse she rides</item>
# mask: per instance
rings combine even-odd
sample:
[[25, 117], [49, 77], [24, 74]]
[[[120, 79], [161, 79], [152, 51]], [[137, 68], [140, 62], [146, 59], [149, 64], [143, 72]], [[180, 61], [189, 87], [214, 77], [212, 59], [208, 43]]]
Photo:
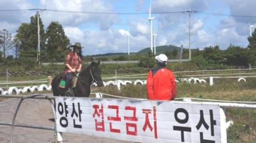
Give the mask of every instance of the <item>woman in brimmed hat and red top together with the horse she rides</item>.
[[54, 77], [52, 81], [52, 90], [54, 96], [66, 96], [67, 90], [71, 86], [71, 81], [73, 79], [74, 73], [76, 71], [80, 71], [79, 76], [77, 76], [77, 82], [74, 88], [72, 88], [72, 92], [74, 93], [72, 96], [75, 97], [89, 97], [90, 95], [90, 86], [93, 82], [95, 82], [98, 86], [102, 86], [103, 82], [100, 76], [99, 64], [100, 62], [92, 62], [86, 68], [81, 70], [82, 63], [82, 55], [81, 55], [81, 44], [76, 42], [73, 52], [70, 52], [66, 58], [66, 86], [65, 88], [61, 88], [59, 86], [60, 81], [63, 79], [62, 74]]

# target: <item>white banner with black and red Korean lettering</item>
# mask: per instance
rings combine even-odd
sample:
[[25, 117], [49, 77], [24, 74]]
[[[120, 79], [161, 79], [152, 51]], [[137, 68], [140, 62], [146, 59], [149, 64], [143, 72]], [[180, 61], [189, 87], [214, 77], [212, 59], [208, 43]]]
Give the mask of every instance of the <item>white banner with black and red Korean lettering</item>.
[[218, 105], [57, 98], [56, 114], [58, 132], [136, 142], [221, 142]]

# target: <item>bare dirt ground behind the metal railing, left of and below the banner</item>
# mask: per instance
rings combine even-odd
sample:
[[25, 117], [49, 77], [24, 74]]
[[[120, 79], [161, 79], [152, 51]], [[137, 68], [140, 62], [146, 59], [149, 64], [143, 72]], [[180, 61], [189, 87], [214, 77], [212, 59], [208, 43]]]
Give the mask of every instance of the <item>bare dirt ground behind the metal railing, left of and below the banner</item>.
[[[19, 99], [6, 99], [0, 101], [0, 122], [11, 123]], [[37, 126], [54, 127], [50, 102], [47, 100], [25, 100], [16, 116], [16, 124], [29, 124]], [[0, 125], [0, 143], [10, 142], [10, 126]], [[54, 131], [15, 127], [13, 142], [52, 142]], [[101, 138], [87, 135], [63, 133], [64, 142], [127, 142], [116, 139]]]

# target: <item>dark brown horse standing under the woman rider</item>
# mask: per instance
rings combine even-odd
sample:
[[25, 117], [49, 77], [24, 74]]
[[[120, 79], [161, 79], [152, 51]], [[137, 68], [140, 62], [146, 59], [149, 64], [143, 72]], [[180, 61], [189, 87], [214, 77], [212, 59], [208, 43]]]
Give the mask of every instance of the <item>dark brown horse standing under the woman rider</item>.
[[[75, 97], [89, 97], [90, 96], [90, 86], [93, 82], [97, 83], [98, 86], [102, 86], [103, 82], [100, 77], [99, 63], [92, 62], [86, 68], [80, 71], [77, 79], [76, 87], [73, 88]], [[52, 81], [52, 91], [53, 96], [65, 96], [68, 89], [60, 88], [59, 82], [61, 81], [61, 74], [54, 77]]]

